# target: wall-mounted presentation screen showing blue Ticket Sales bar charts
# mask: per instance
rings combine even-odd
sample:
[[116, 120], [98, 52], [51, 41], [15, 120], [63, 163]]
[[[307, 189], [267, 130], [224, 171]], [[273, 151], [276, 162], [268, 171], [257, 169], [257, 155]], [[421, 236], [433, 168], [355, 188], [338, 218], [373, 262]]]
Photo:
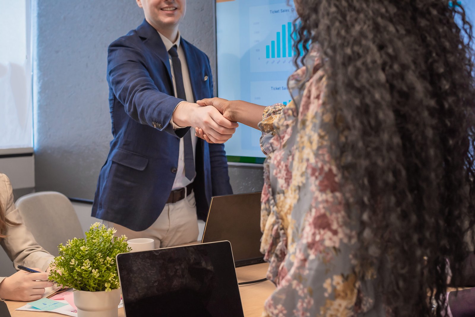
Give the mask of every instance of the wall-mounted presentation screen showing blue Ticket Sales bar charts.
[[[287, 104], [295, 71], [293, 1], [217, 0], [218, 97], [268, 106]], [[261, 132], [240, 124], [225, 143], [228, 161], [262, 163]]]

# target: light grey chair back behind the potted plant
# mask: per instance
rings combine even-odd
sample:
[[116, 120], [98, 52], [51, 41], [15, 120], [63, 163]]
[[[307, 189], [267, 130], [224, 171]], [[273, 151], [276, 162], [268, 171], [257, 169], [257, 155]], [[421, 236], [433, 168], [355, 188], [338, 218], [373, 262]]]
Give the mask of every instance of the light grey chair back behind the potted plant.
[[16, 205], [38, 244], [54, 256], [58, 255], [59, 243], [85, 237], [73, 204], [61, 193], [28, 194], [20, 197]]

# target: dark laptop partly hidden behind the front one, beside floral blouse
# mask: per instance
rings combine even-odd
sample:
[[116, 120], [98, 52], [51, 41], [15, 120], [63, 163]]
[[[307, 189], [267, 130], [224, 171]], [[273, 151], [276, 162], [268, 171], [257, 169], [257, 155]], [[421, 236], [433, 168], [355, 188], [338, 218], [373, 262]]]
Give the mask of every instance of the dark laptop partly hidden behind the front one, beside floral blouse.
[[214, 196], [201, 243], [231, 242], [236, 267], [264, 262], [260, 217], [260, 192]]

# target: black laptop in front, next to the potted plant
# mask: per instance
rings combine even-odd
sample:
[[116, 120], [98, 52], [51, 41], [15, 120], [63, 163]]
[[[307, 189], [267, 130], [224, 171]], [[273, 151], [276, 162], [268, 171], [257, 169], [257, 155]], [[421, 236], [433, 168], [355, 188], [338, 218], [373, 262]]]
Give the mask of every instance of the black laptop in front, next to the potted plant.
[[116, 256], [125, 317], [244, 317], [228, 241]]

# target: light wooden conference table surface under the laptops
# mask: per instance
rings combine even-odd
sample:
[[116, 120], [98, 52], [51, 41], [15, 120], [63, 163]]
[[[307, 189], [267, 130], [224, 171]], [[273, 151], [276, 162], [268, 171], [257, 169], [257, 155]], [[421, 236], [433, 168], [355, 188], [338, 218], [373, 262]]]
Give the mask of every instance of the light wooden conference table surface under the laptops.
[[[259, 263], [254, 265], [242, 266], [236, 268], [238, 282], [251, 280], [260, 280], [266, 277], [266, 271], [269, 263]], [[264, 301], [276, 289], [274, 284], [268, 280], [255, 284], [239, 286], [241, 294], [242, 308], [245, 317], [260, 317], [264, 307]], [[16, 308], [24, 306], [25, 302], [6, 301], [11, 317], [60, 317], [57, 313], [21, 311]], [[123, 308], [119, 309], [119, 317], [124, 317]]]

